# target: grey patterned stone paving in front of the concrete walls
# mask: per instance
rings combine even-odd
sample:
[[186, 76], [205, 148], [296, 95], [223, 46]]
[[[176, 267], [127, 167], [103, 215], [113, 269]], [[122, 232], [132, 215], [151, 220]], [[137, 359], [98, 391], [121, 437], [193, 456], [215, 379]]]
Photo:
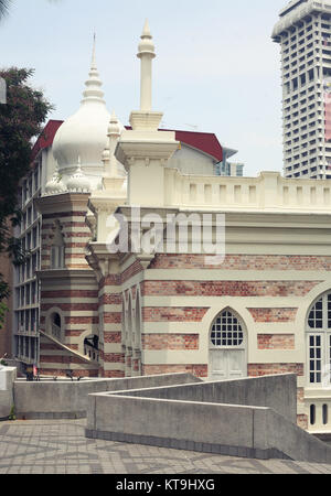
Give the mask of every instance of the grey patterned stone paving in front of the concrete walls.
[[85, 420], [0, 423], [0, 474], [331, 474], [331, 465], [257, 461], [89, 440]]

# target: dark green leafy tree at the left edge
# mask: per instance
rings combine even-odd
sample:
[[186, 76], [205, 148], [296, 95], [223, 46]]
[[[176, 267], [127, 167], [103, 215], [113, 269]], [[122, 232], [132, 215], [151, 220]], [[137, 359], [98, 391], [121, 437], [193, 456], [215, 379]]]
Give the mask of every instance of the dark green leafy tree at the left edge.
[[[1, 0], [0, 0], [1, 1]], [[0, 254], [13, 263], [24, 260], [24, 251], [12, 236], [20, 223], [18, 191], [31, 164], [32, 139], [42, 132], [53, 106], [42, 91], [29, 86], [33, 69], [0, 69], [7, 84], [7, 104], [0, 105]], [[9, 285], [0, 274], [0, 302], [8, 298]]]

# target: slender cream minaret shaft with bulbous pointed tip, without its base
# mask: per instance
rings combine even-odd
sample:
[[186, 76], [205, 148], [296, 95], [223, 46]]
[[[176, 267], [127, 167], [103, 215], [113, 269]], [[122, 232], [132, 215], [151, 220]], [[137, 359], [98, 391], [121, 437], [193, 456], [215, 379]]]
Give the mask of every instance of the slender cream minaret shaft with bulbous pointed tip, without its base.
[[148, 20], [145, 22], [140, 37], [137, 55], [141, 61], [140, 111], [150, 112], [152, 108], [152, 60], [156, 57], [156, 47]]

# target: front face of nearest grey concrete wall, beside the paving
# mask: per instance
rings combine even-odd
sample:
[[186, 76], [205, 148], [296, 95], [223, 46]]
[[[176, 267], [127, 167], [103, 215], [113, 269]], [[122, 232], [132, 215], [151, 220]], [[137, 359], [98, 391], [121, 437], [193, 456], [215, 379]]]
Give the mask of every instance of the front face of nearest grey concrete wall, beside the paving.
[[266, 450], [260, 434], [267, 411], [258, 407], [93, 395], [86, 436], [268, 459], [277, 453]]

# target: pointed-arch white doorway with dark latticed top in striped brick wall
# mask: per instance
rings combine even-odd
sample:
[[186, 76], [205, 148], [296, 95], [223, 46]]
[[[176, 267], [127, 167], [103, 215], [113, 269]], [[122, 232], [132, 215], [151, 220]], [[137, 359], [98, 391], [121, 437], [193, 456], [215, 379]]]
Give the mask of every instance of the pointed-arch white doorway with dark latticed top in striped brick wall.
[[247, 376], [247, 336], [244, 323], [231, 309], [223, 310], [212, 324], [209, 369], [212, 380]]

